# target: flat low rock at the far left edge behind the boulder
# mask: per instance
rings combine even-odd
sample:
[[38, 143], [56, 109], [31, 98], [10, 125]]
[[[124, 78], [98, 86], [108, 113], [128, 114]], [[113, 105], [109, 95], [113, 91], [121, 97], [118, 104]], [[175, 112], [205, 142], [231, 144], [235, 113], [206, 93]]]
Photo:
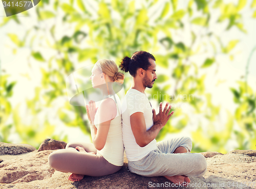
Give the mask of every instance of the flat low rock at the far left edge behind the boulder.
[[29, 144], [8, 144], [0, 142], [0, 155], [10, 154], [18, 155], [23, 153], [28, 153], [36, 150], [35, 147]]

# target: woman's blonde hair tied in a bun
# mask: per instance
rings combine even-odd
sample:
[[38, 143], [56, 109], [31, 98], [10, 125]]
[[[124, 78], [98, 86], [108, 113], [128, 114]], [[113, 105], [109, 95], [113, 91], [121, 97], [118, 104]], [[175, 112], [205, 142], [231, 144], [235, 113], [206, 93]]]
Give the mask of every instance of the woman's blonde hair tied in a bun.
[[112, 60], [101, 59], [95, 65], [106, 75], [109, 76], [112, 82], [119, 82], [123, 84], [124, 74], [118, 71], [116, 63]]

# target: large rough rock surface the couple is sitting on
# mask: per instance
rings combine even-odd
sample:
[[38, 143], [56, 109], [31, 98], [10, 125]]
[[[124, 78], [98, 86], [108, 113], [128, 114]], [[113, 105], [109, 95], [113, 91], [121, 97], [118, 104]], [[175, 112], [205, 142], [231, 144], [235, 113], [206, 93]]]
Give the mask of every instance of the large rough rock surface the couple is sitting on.
[[[172, 187], [172, 182], [164, 177], [131, 173], [126, 158], [117, 173], [102, 177], [84, 176], [81, 181], [72, 182], [68, 180], [69, 173], [49, 167], [47, 158], [51, 152], [53, 150], [0, 156], [4, 160], [0, 163], [0, 188], [183, 188]], [[190, 177], [190, 185], [184, 188], [256, 188], [255, 153], [256, 150], [234, 150], [208, 157], [206, 174]]]

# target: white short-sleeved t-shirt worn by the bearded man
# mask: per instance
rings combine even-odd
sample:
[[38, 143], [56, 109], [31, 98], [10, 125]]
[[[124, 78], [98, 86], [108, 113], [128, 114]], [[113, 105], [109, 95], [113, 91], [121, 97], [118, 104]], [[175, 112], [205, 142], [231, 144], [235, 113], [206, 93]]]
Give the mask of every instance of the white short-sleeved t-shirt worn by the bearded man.
[[130, 122], [130, 116], [136, 112], [143, 113], [146, 130], [150, 129], [154, 124], [150, 101], [144, 93], [141, 93], [136, 89], [129, 89], [122, 103], [123, 144], [126, 157], [129, 161], [138, 161], [157, 148], [156, 139], [144, 147], [140, 147], [136, 143]]

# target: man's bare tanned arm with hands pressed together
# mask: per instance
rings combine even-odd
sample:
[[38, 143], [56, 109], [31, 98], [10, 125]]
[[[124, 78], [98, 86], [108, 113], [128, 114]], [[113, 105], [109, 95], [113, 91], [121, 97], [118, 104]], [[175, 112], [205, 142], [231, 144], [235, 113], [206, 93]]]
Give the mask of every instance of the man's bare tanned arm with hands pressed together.
[[[169, 114], [170, 107], [167, 109], [168, 103], [166, 103], [164, 110], [162, 111], [162, 102], [159, 106], [159, 114], [156, 115], [156, 111], [153, 109], [153, 119], [154, 125], [146, 130], [146, 123], [144, 119], [144, 115], [142, 112], [136, 112], [130, 116], [132, 131], [136, 140], [136, 143], [140, 147], [144, 147], [153, 141], [161, 128], [167, 123], [170, 116], [173, 115], [174, 112]], [[169, 115], [168, 115], [169, 114]]]

